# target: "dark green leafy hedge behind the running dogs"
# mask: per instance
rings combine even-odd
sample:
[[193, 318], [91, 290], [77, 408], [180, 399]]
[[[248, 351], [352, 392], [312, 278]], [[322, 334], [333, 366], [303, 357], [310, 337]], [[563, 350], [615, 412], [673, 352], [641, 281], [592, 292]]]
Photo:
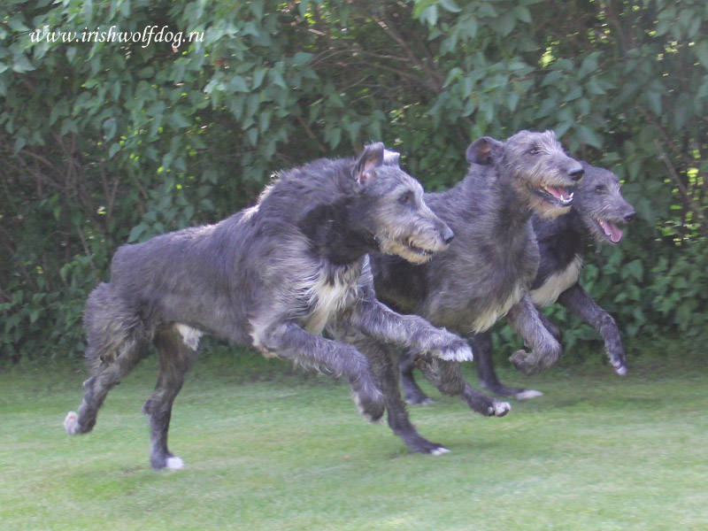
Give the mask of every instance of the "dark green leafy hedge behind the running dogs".
[[[0, 361], [79, 355], [117, 246], [223, 218], [279, 168], [383, 140], [440, 189], [521, 128], [624, 179], [639, 220], [584, 273], [624, 333], [705, 339], [703, 0], [5, 0], [0, 21]], [[203, 33], [107, 42], [147, 27]], [[568, 346], [594, 337], [555, 313]]]

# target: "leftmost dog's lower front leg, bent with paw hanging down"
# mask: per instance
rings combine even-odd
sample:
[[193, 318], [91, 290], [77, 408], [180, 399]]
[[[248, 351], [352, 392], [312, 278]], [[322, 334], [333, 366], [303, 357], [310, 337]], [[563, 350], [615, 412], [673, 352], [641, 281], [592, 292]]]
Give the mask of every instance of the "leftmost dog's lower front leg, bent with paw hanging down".
[[288, 321], [255, 330], [253, 343], [258, 350], [291, 359], [320, 373], [343, 376], [350, 383], [359, 412], [372, 422], [381, 419], [384, 412], [381, 390], [366, 356], [355, 347], [312, 335]]

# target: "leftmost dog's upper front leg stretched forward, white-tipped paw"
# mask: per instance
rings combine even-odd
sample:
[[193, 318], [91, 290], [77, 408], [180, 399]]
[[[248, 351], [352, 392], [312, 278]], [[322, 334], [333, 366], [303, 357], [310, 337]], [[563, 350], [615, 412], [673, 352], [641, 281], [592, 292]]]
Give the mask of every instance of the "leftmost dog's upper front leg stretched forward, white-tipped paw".
[[436, 328], [417, 315], [401, 315], [379, 301], [361, 301], [351, 315], [351, 326], [381, 342], [420, 352], [430, 352], [448, 361], [471, 361], [472, 349], [458, 335]]

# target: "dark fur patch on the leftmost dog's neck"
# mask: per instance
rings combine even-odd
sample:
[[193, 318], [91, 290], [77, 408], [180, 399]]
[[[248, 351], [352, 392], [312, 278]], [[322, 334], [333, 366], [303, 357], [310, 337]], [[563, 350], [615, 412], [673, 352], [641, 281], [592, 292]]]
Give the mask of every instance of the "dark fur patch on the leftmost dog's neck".
[[335, 266], [353, 264], [379, 249], [373, 233], [366, 230], [355, 212], [356, 202], [350, 197], [342, 197], [308, 211], [298, 227], [319, 256]]

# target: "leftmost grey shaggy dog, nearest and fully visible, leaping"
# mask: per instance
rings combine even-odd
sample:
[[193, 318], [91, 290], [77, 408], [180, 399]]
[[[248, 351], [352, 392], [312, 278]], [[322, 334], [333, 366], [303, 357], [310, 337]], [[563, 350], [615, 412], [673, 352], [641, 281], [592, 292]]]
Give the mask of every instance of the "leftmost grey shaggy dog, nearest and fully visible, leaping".
[[423, 203], [419, 182], [375, 143], [358, 159], [321, 159], [281, 173], [257, 205], [215, 225], [121, 247], [111, 281], [86, 304], [91, 377], [78, 414], [66, 415], [66, 431], [94, 427], [108, 391], [154, 342], [158, 384], [143, 407], [150, 464], [180, 468], [181, 458], [167, 449], [167, 431], [203, 334], [342, 375], [360, 411], [381, 418], [381, 391], [366, 357], [320, 332], [347, 323], [376, 341], [471, 359], [457, 335], [379, 303], [367, 258], [379, 251], [423, 264], [452, 236]]

